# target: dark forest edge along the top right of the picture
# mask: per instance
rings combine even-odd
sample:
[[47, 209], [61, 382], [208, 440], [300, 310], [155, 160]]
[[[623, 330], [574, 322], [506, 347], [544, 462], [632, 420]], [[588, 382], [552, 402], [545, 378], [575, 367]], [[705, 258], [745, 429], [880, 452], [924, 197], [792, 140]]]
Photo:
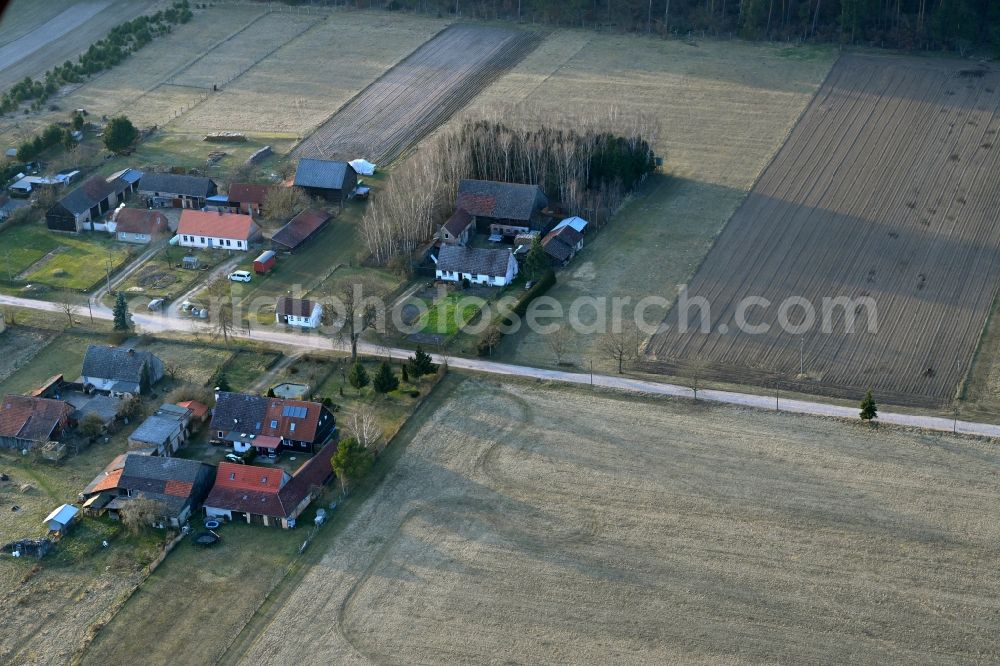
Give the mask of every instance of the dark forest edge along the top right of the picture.
[[[286, 0], [315, 4], [316, 0]], [[626, 32], [1000, 53], [996, 0], [329, 0], [320, 4]]]

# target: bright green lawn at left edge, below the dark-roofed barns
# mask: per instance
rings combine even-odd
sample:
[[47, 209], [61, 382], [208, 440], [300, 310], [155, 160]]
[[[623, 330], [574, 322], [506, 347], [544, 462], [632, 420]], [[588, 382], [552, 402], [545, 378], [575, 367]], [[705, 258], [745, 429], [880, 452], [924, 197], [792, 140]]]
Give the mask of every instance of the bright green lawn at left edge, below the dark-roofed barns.
[[23, 224], [0, 233], [0, 256], [9, 261], [8, 277], [53, 289], [86, 291], [118, 270], [137, 249], [95, 232], [55, 235], [42, 223]]

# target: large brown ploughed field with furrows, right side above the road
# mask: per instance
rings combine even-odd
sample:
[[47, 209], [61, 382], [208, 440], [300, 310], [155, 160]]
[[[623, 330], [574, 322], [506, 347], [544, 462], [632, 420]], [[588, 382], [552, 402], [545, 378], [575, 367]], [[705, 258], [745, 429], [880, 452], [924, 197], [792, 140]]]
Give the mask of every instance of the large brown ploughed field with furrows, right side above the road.
[[[842, 58], [691, 282], [712, 307], [712, 332], [682, 333], [672, 312], [647, 347], [652, 367], [699, 359], [723, 375], [793, 377], [801, 345], [814, 390], [870, 388], [903, 404], [954, 397], [1000, 278], [1000, 73], [968, 67]], [[736, 330], [746, 296], [775, 304], [752, 315], [767, 333]], [[841, 309], [832, 332], [818, 319], [795, 335], [777, 324], [789, 297], [817, 318], [836, 297], [871, 298], [876, 314], [852, 306], [854, 334]]]

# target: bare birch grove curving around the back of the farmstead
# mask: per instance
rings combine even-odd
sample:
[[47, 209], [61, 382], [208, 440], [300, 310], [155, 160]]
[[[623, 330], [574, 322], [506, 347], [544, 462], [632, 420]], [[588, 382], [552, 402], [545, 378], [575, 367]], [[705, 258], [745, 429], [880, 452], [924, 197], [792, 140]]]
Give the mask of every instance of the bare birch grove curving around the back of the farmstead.
[[556, 116], [518, 106], [465, 117], [372, 198], [362, 223], [368, 251], [386, 264], [428, 242], [454, 211], [463, 178], [539, 185], [567, 214], [599, 226], [653, 170], [657, 135], [653, 117], [615, 108]]

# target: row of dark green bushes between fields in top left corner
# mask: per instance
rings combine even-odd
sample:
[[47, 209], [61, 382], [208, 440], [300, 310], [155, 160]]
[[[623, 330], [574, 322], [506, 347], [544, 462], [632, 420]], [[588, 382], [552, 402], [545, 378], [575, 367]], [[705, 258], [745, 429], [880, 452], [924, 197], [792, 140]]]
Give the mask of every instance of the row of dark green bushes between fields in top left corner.
[[178, 0], [165, 10], [115, 26], [107, 37], [81, 53], [77, 62], [67, 60], [45, 72], [41, 80], [26, 76], [11, 86], [0, 96], [0, 113], [16, 111], [25, 102], [31, 102], [32, 111], [41, 109], [60, 86], [79, 83], [84, 78], [114, 67], [154, 38], [169, 33], [172, 26], [187, 23], [191, 17], [188, 1]]

